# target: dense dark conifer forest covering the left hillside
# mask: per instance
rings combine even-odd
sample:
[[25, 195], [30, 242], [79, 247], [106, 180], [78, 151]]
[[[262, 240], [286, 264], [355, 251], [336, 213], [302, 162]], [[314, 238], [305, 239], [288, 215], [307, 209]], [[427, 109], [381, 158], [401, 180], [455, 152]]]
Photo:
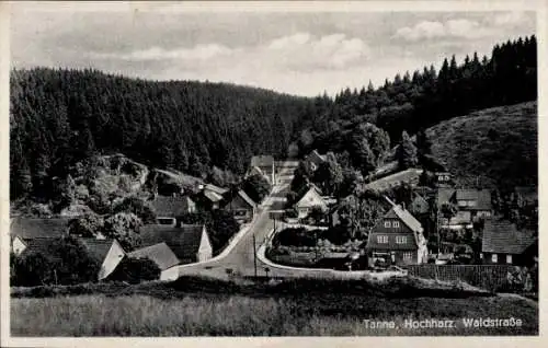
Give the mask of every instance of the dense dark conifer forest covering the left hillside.
[[11, 93], [12, 197], [36, 194], [95, 152], [196, 176], [214, 165], [241, 174], [253, 154], [284, 155], [312, 103], [230, 84], [46, 68], [12, 71]]

